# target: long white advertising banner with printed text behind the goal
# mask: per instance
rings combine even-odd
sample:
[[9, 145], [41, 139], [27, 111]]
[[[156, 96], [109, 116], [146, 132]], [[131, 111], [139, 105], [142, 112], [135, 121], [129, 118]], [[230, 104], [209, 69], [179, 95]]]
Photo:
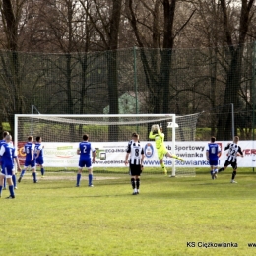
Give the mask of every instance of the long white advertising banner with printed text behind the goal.
[[[227, 151], [224, 147], [227, 141], [217, 142], [221, 146], [222, 155], [219, 160], [219, 166], [224, 165]], [[25, 154], [23, 153], [23, 146], [25, 142], [18, 144], [18, 156], [21, 164], [24, 163]], [[145, 150], [145, 167], [159, 166], [157, 150], [155, 142], [141, 142]], [[171, 142], [165, 142], [165, 146], [169, 152], [171, 149]], [[44, 152], [44, 166], [47, 167], [77, 167], [79, 155], [77, 155], [77, 148], [79, 143], [43, 143]], [[123, 167], [126, 155], [126, 148], [128, 142], [92, 142], [96, 149], [96, 162], [94, 166], [98, 167]], [[206, 160], [206, 149], [208, 142], [177, 142], [175, 147], [175, 154], [185, 161], [181, 162], [175, 160], [176, 166], [184, 167], [208, 167], [209, 163]], [[254, 141], [240, 141], [244, 158], [238, 157], [237, 163], [239, 167], [254, 167], [256, 166], [256, 144]], [[172, 165], [170, 158], [164, 158], [166, 166]]]

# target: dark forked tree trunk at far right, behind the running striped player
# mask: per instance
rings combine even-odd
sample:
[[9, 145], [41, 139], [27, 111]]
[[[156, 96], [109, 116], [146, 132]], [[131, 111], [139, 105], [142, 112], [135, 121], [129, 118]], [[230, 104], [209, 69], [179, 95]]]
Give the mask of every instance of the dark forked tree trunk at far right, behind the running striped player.
[[[239, 91], [241, 85], [241, 67], [242, 57], [244, 53], [244, 43], [247, 32], [250, 26], [251, 19], [254, 15], [253, 4], [255, 0], [242, 0], [239, 24], [237, 24], [237, 31], [232, 31], [231, 19], [228, 15], [230, 9], [229, 3], [225, 0], [220, 0], [223, 13], [223, 30], [225, 34], [225, 43], [228, 46], [228, 53], [230, 55], [230, 62], [227, 67], [227, 79], [224, 91], [224, 104], [234, 104], [235, 109], [239, 108]], [[237, 39], [236, 39], [237, 38]], [[231, 113], [224, 115], [224, 118], [219, 120], [218, 124], [218, 138], [219, 140], [229, 140], [231, 138]]]

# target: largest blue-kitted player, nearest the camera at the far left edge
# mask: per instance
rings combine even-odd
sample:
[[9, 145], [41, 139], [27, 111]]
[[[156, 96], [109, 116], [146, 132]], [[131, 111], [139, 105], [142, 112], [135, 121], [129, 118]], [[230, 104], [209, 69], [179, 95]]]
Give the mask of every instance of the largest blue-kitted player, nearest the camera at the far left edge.
[[9, 185], [9, 191], [10, 191], [10, 196], [7, 197], [7, 199], [15, 198], [14, 185], [12, 181], [12, 175], [13, 175], [13, 169], [14, 169], [14, 160], [13, 160], [14, 147], [11, 141], [12, 141], [12, 136], [6, 135], [5, 143], [0, 148], [0, 156], [2, 158], [2, 166], [3, 166], [3, 169], [0, 174], [0, 196], [2, 194], [3, 181], [4, 181], [4, 178], [6, 177]]

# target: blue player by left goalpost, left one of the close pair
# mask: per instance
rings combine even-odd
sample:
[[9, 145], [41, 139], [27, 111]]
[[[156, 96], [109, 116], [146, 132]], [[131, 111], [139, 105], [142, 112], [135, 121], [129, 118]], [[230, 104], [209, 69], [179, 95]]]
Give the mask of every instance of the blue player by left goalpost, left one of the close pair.
[[21, 172], [21, 175], [18, 179], [18, 182], [22, 181], [22, 178], [29, 166], [32, 168], [32, 177], [33, 177], [33, 183], [37, 183], [36, 179], [36, 166], [35, 166], [35, 158], [34, 158], [34, 143], [33, 143], [33, 137], [29, 136], [28, 137], [28, 142], [24, 145], [24, 153], [26, 154], [25, 157], [25, 164], [24, 164], [24, 169]]

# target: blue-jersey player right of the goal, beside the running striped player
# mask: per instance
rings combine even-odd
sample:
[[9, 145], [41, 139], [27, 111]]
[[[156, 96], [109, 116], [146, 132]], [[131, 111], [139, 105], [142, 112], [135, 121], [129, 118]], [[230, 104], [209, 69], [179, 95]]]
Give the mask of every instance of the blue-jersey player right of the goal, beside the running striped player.
[[206, 158], [209, 161], [211, 167], [211, 176], [212, 179], [217, 178], [218, 173], [218, 160], [221, 154], [221, 147], [218, 143], [215, 142], [216, 138], [214, 136], [211, 137], [211, 142], [208, 143], [208, 147], [206, 149]]

